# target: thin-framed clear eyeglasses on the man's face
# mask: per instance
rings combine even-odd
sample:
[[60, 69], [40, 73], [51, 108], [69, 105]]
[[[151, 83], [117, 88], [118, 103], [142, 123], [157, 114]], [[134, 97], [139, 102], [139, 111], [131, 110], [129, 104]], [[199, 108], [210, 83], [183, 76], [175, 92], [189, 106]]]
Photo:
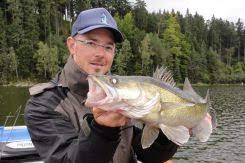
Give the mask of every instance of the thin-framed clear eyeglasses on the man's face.
[[99, 44], [93, 40], [76, 40], [79, 41], [81, 43], [83, 43], [84, 45], [86, 45], [89, 48], [93, 48], [93, 49], [97, 49], [99, 46], [104, 48], [105, 51], [109, 54], [114, 54], [115, 52], [115, 45], [103, 45], [103, 44]]

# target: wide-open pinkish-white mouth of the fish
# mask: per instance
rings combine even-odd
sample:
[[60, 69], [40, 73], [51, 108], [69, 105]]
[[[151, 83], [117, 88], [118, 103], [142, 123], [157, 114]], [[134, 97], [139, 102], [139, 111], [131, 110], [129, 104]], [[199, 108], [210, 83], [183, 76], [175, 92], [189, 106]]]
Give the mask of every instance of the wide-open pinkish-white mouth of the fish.
[[95, 75], [88, 75], [89, 92], [85, 105], [98, 107], [113, 101], [115, 91], [105, 82], [99, 80]]

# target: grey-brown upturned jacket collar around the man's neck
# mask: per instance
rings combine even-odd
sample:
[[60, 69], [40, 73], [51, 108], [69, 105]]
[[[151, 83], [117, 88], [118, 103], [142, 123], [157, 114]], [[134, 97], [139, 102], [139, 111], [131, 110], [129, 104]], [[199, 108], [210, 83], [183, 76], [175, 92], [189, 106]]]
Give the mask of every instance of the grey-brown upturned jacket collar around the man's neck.
[[58, 77], [58, 84], [68, 87], [71, 92], [85, 97], [88, 92], [88, 74], [82, 71], [74, 62], [72, 55], [69, 56], [65, 67]]

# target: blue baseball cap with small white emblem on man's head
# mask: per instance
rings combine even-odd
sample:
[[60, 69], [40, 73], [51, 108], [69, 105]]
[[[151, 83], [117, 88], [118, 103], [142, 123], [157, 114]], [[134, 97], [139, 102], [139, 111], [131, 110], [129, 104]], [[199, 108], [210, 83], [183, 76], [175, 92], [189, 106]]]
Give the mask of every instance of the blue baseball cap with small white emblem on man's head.
[[80, 12], [72, 25], [71, 36], [84, 34], [97, 28], [106, 28], [113, 33], [116, 42], [123, 41], [123, 35], [118, 30], [116, 21], [105, 8], [93, 8]]

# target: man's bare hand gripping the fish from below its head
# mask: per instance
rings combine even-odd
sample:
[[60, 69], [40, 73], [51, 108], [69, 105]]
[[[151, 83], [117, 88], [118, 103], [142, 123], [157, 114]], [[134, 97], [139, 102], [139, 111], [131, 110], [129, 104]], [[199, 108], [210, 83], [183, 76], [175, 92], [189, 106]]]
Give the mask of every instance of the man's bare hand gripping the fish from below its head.
[[124, 126], [128, 121], [128, 118], [120, 113], [107, 112], [100, 108], [93, 108], [92, 113], [95, 121], [102, 126], [120, 127]]

